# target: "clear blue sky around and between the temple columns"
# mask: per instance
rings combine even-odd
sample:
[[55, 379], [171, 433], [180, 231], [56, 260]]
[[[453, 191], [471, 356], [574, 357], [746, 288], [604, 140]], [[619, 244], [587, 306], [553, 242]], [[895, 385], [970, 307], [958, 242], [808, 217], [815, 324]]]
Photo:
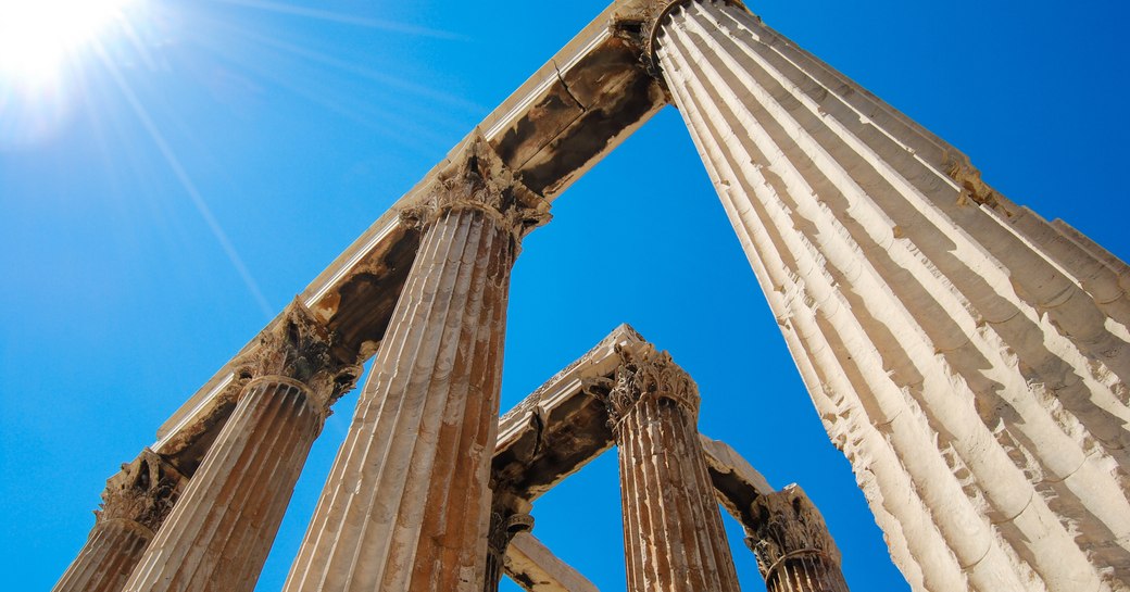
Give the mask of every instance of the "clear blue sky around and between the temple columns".
[[[1125, 2], [750, 5], [1006, 195], [1130, 255]], [[49, 589], [119, 463], [603, 8], [134, 0], [136, 41], [111, 27], [101, 58], [75, 50], [59, 93], [28, 98], [0, 77], [7, 589]], [[678, 113], [577, 182], [555, 216], [514, 271], [504, 409], [628, 322], [697, 380], [705, 434], [774, 486], [808, 490], [852, 590], [906, 590]], [[327, 424], [259, 590], [281, 586], [355, 402]], [[560, 557], [623, 589], [615, 454], [534, 513]], [[733, 540], [744, 587], [760, 590]]]

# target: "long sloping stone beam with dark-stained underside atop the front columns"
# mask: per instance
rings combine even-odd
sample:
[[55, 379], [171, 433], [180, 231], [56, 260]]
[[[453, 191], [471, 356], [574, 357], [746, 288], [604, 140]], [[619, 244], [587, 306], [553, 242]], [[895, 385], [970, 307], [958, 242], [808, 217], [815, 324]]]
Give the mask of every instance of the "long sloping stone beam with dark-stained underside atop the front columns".
[[[341, 348], [376, 351], [419, 245], [399, 214], [469, 141], [485, 137], [518, 179], [551, 200], [667, 104], [631, 36], [617, 35], [618, 15], [646, 3], [619, 0], [601, 12], [303, 290], [299, 299], [340, 334]], [[231, 413], [232, 378], [228, 363], [162, 425], [153, 450], [191, 473]]]

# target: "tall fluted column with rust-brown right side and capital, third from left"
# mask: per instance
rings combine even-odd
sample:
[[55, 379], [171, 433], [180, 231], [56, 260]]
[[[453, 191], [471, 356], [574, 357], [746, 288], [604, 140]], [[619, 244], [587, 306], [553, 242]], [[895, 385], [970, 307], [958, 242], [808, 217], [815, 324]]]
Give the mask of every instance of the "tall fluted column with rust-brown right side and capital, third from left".
[[481, 592], [510, 272], [548, 219], [485, 141], [408, 212], [424, 237], [287, 592]]

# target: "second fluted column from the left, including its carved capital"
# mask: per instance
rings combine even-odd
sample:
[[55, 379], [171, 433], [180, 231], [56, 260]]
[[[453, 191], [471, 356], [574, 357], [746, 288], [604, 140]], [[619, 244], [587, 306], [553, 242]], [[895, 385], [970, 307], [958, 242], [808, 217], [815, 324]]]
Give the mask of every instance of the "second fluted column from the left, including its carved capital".
[[330, 404], [360, 373], [332, 339], [296, 301], [236, 360], [238, 403], [125, 590], [254, 589]]

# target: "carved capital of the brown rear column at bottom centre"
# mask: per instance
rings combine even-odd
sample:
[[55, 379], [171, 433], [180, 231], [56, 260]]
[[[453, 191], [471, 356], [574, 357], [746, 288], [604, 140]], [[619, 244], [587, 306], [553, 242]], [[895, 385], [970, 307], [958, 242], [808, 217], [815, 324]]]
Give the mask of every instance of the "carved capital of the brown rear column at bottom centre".
[[605, 401], [609, 424], [617, 429], [620, 420], [645, 398], [666, 399], [683, 408], [692, 418], [698, 415], [698, 386], [671, 360], [667, 351], [651, 345], [640, 350], [617, 346], [620, 365], [611, 380], [589, 381], [585, 389]]

